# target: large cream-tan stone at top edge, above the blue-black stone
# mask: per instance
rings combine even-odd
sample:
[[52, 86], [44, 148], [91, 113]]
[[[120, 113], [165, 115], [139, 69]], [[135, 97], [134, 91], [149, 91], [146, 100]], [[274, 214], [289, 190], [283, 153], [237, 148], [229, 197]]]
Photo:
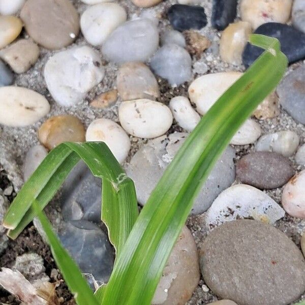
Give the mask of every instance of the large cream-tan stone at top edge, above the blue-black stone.
[[240, 17], [242, 21], [251, 23], [256, 29], [263, 23], [289, 20], [292, 0], [242, 0], [240, 2]]

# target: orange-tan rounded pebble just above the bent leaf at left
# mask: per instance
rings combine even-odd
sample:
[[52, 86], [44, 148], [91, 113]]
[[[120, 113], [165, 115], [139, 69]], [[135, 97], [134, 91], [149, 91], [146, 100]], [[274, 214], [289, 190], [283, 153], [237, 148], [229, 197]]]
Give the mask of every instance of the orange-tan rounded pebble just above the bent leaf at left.
[[73, 115], [52, 116], [40, 127], [38, 138], [45, 147], [52, 149], [66, 141], [85, 141], [85, 129]]

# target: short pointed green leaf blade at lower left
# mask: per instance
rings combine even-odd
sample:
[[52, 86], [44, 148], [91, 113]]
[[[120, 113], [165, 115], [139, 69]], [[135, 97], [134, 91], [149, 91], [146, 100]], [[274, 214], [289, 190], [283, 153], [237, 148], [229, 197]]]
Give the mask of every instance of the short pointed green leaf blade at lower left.
[[63, 273], [64, 279], [73, 293], [74, 298], [79, 305], [99, 305], [93, 291], [88, 286], [86, 280], [82, 277], [81, 271], [75, 261], [70, 257], [68, 252], [59, 242], [54, 234], [51, 224], [41, 211], [37, 201], [33, 202], [33, 209], [38, 216], [39, 221], [48, 238], [52, 255]]

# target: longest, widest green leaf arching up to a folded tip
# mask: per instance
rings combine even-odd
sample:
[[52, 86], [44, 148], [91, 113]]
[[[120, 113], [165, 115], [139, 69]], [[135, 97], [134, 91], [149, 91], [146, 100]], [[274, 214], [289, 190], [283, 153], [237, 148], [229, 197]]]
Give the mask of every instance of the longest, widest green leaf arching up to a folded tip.
[[97, 297], [103, 305], [149, 305], [178, 234], [215, 162], [258, 104], [281, 80], [287, 58], [275, 38], [251, 36], [267, 49], [203, 116], [143, 207]]

